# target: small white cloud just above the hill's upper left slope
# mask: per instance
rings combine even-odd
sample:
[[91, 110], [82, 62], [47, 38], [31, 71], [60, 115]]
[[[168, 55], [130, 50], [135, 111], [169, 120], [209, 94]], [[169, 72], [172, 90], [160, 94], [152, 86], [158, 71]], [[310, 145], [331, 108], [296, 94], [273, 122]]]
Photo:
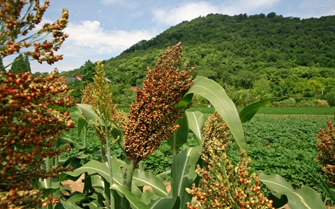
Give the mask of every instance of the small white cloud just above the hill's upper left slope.
[[193, 20], [196, 17], [218, 13], [218, 8], [207, 2], [186, 3], [168, 11], [154, 9], [154, 22], [158, 24], [175, 25], [184, 20]]

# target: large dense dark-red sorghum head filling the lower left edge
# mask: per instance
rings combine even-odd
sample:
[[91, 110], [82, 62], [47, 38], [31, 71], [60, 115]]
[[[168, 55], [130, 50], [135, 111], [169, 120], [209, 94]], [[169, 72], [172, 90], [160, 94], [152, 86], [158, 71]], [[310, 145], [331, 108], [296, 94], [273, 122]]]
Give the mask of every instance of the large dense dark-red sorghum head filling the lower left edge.
[[[75, 124], [68, 112], [50, 107], [57, 104], [70, 108], [74, 104], [68, 98], [57, 99], [57, 94], [68, 91], [59, 79], [57, 74], [34, 78], [29, 72], [0, 72], [1, 200], [10, 195], [19, 201], [22, 194], [30, 203], [39, 204], [38, 198], [28, 198], [33, 195], [29, 191], [37, 189], [34, 183], [39, 179], [57, 178], [60, 172], [68, 171], [63, 167], [52, 167], [49, 171], [41, 168], [45, 157], [55, 157], [69, 150], [66, 146], [52, 148], [54, 138], [48, 137], [70, 130]], [[24, 205], [26, 200], [21, 199], [16, 206]], [[0, 208], [6, 208], [2, 203], [4, 201], [0, 202]]]

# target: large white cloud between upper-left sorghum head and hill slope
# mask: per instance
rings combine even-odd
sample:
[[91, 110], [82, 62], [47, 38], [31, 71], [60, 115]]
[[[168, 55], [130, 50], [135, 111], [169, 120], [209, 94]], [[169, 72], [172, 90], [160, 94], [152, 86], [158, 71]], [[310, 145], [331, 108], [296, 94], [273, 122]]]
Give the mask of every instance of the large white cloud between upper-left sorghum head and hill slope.
[[[110, 59], [119, 55], [140, 40], [149, 40], [156, 36], [156, 29], [151, 30], [113, 30], [108, 31], [98, 21], [83, 21], [80, 24], [69, 22], [64, 30], [69, 37], [61, 45], [61, 49], [55, 54], [63, 54], [64, 59], [47, 65], [40, 65], [36, 61], [30, 61], [32, 72], [50, 72], [54, 68], [60, 71], [79, 68], [85, 61], [98, 61]], [[3, 59], [6, 65], [11, 63], [15, 56]]]

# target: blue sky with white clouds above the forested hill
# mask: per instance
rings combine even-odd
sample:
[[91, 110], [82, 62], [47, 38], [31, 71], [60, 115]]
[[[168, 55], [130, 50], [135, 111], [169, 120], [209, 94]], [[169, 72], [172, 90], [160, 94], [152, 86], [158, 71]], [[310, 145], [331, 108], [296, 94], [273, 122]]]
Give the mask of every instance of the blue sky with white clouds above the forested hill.
[[[85, 61], [118, 56], [140, 40], [149, 40], [184, 20], [210, 13], [255, 15], [275, 12], [283, 17], [335, 15], [334, 0], [50, 0], [43, 21], [54, 22], [68, 8], [65, 29], [69, 38], [59, 54], [64, 59], [54, 65], [31, 61], [32, 72], [79, 68]], [[3, 59], [6, 64], [13, 55]]]

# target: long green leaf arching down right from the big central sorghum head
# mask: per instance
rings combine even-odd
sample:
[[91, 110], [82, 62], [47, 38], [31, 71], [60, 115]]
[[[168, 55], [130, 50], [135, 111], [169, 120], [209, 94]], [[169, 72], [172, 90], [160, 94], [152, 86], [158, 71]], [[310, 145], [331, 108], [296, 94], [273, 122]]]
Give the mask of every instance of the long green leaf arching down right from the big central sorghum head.
[[222, 86], [214, 82], [212, 79], [198, 76], [195, 78], [193, 86], [191, 86], [186, 95], [189, 93], [196, 93], [209, 100], [216, 111], [222, 116], [223, 120], [225, 120], [225, 123], [227, 123], [239, 148], [241, 150], [246, 150], [246, 141], [244, 139], [244, 132], [241, 120], [239, 119], [239, 114], [234, 102], [228, 97]]

